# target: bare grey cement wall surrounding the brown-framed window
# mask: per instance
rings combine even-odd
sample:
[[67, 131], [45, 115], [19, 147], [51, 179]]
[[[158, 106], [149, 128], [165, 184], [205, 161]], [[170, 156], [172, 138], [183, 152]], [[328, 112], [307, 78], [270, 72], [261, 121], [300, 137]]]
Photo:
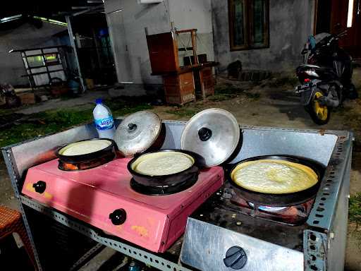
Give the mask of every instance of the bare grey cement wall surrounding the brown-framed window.
[[269, 48], [230, 51], [228, 1], [212, 0], [214, 54], [219, 72], [235, 60], [245, 69], [289, 71], [300, 63], [300, 52], [312, 35], [314, 0], [269, 1]]

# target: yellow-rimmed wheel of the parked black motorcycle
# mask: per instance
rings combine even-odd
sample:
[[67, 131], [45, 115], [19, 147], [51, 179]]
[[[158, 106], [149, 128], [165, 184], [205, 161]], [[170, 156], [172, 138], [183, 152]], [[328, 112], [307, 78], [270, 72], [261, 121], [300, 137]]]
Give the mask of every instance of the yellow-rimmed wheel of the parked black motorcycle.
[[322, 92], [320, 91], [314, 92], [310, 104], [308, 104], [306, 108], [307, 112], [310, 114], [314, 123], [318, 125], [327, 124], [331, 116], [331, 111], [329, 107], [319, 103], [319, 98], [322, 96], [323, 96]]

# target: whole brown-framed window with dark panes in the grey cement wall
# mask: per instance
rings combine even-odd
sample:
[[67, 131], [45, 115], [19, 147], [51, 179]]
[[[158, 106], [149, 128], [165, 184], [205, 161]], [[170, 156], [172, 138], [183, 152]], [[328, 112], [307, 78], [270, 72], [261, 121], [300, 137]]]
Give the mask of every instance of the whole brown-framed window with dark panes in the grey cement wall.
[[269, 47], [269, 0], [228, 0], [231, 51]]

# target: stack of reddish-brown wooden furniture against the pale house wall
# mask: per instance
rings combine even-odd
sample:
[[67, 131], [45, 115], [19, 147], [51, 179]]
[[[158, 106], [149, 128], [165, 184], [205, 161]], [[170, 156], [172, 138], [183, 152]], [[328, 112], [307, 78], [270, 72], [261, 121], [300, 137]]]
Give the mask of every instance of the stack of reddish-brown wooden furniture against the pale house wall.
[[[189, 32], [192, 38], [194, 64], [179, 66], [178, 42], [174, 35]], [[178, 30], [173, 32], [147, 35], [149, 59], [152, 66], [152, 76], [162, 76], [164, 92], [168, 104], [185, 104], [196, 100], [196, 90], [204, 99], [214, 95], [214, 78], [212, 67], [214, 61], [199, 63], [197, 57], [197, 29]], [[188, 50], [188, 48], [186, 49]]]

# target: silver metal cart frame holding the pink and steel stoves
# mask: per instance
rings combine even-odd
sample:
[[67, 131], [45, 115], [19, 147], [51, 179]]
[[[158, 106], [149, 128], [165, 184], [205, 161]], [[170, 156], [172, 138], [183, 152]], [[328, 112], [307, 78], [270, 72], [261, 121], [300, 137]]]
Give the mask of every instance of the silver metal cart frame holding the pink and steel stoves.
[[[121, 120], [117, 120], [117, 124]], [[164, 121], [166, 124], [166, 140], [162, 148], [178, 148], [184, 122]], [[347, 131], [314, 131], [295, 130], [285, 128], [268, 128], [255, 126], [240, 126], [243, 131], [243, 145], [240, 153], [233, 162], [257, 155], [298, 155], [314, 159], [326, 166], [326, 172], [317, 193], [314, 206], [307, 219], [307, 229], [303, 231], [302, 252], [292, 252], [292, 265], [288, 270], [343, 270], [345, 242], [348, 221], [348, 197], [350, 185], [350, 167], [353, 145], [353, 135]], [[65, 215], [50, 206], [37, 203], [32, 198], [21, 195], [26, 171], [30, 167], [54, 159], [54, 150], [60, 145], [94, 138], [97, 132], [92, 124], [71, 128], [61, 133], [45, 135], [40, 138], [27, 140], [23, 143], [4, 147], [2, 149], [8, 174], [19, 200], [27, 234], [30, 236], [32, 248], [39, 270], [71, 270], [82, 265], [93, 253], [99, 250], [99, 244], [114, 248], [125, 255], [140, 260], [159, 270], [192, 270], [192, 267], [202, 267], [207, 270], [233, 270], [225, 267], [223, 260], [228, 245], [214, 251], [214, 245], [222, 243], [222, 236], [230, 232], [235, 241], [243, 244], [245, 251], [255, 253], [248, 243], [255, 241], [254, 237], [247, 239], [247, 235], [240, 231], [231, 231], [212, 224], [212, 221], [201, 221], [197, 217], [188, 219], [185, 239], [179, 239], [166, 253], [155, 254], [145, 251], [126, 241], [107, 239], [90, 224]], [[207, 203], [206, 203], [207, 204]], [[202, 228], [203, 227], [203, 228]], [[240, 226], [241, 227], [241, 226]], [[197, 238], [197, 229], [207, 229], [209, 233], [218, 232], [215, 238], [212, 234], [204, 235], [202, 241]], [[224, 235], [225, 234], [225, 235]], [[197, 246], [190, 246], [190, 240]], [[281, 249], [263, 240], [259, 246], [264, 246], [258, 253], [267, 249]], [[183, 245], [183, 249], [182, 249]], [[217, 246], [219, 248], [219, 246]], [[259, 247], [261, 248], [261, 247]], [[199, 252], [199, 250], [202, 250]], [[181, 251], [182, 250], [182, 251]], [[194, 254], [197, 250], [197, 254]], [[286, 251], [286, 248], [285, 248]], [[197, 263], [195, 257], [197, 255]], [[280, 255], [281, 255], [280, 254]], [[181, 256], [180, 256], [181, 255]], [[271, 254], [270, 254], [271, 255]], [[183, 263], [181, 263], [181, 259]], [[265, 262], [245, 265], [243, 270], [277, 270], [285, 263], [282, 258], [269, 258]], [[282, 269], [283, 270], [283, 269]]]

